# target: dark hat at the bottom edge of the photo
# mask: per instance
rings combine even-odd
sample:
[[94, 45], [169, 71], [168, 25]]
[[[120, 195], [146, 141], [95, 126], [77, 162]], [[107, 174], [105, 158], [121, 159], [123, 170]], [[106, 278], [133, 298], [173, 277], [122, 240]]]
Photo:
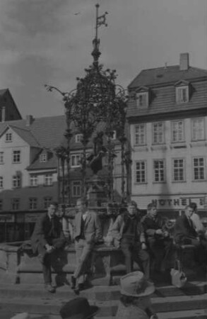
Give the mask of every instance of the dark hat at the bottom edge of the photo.
[[62, 306], [59, 313], [63, 319], [88, 319], [98, 310], [97, 306], [90, 306], [86, 298], [79, 297]]

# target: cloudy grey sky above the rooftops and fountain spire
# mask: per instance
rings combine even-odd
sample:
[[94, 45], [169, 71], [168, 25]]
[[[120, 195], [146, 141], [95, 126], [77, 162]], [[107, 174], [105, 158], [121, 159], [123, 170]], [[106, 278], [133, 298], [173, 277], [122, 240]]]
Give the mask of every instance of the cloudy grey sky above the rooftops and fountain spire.
[[190, 65], [207, 69], [206, 0], [0, 0], [0, 89], [11, 91], [20, 114], [59, 116], [57, 92], [76, 88], [92, 62], [95, 4], [107, 11], [98, 29], [100, 63], [117, 70], [125, 89], [142, 69]]

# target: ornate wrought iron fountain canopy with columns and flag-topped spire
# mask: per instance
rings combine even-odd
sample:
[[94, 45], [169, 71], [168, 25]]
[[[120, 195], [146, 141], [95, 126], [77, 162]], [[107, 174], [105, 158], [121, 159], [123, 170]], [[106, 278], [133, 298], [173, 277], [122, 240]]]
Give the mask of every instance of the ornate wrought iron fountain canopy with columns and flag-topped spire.
[[[71, 132], [71, 123], [75, 125], [78, 133], [81, 133], [83, 144], [82, 165], [82, 196], [86, 195], [85, 171], [86, 171], [86, 147], [93, 133], [100, 122], [105, 123], [104, 134], [107, 136], [107, 198], [113, 200], [113, 147], [112, 135], [117, 131], [117, 138], [122, 144], [122, 165], [124, 165], [124, 125], [126, 120], [126, 91], [122, 86], [117, 85], [116, 70], [103, 69], [99, 63], [101, 55], [100, 39], [97, 37], [97, 30], [100, 26], [106, 24], [105, 12], [102, 16], [98, 15], [99, 5], [96, 4], [95, 18], [95, 38], [93, 39], [93, 64], [85, 69], [85, 77], [77, 78], [76, 89], [71, 92], [62, 92], [55, 86], [47, 86], [48, 91], [57, 90], [63, 96], [64, 106], [66, 108], [66, 139], [68, 147], [66, 152], [70, 152], [70, 140], [73, 135]], [[66, 157], [67, 159], [69, 158]], [[126, 163], [125, 163], [126, 164]], [[124, 174], [124, 170], [122, 169]], [[69, 179], [69, 172], [68, 172]], [[122, 196], [124, 196], [124, 178], [122, 178]]]

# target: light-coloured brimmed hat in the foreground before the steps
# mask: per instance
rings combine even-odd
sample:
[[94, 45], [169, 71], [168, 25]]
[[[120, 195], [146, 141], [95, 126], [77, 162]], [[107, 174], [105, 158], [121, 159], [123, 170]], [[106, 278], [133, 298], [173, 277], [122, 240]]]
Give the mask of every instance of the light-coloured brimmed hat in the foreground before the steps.
[[148, 296], [155, 291], [155, 286], [146, 280], [143, 272], [130, 272], [120, 279], [121, 293], [125, 296]]

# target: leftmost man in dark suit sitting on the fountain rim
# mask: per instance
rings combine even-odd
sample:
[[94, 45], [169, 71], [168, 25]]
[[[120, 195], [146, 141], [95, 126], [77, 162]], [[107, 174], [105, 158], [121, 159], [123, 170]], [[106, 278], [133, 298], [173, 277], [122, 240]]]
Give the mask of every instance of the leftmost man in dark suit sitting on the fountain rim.
[[51, 293], [55, 291], [52, 286], [50, 254], [65, 243], [59, 218], [56, 216], [57, 203], [49, 204], [47, 213], [42, 215], [35, 225], [32, 233], [31, 245], [34, 254], [38, 253], [42, 263], [42, 272], [45, 281], [45, 289]]

